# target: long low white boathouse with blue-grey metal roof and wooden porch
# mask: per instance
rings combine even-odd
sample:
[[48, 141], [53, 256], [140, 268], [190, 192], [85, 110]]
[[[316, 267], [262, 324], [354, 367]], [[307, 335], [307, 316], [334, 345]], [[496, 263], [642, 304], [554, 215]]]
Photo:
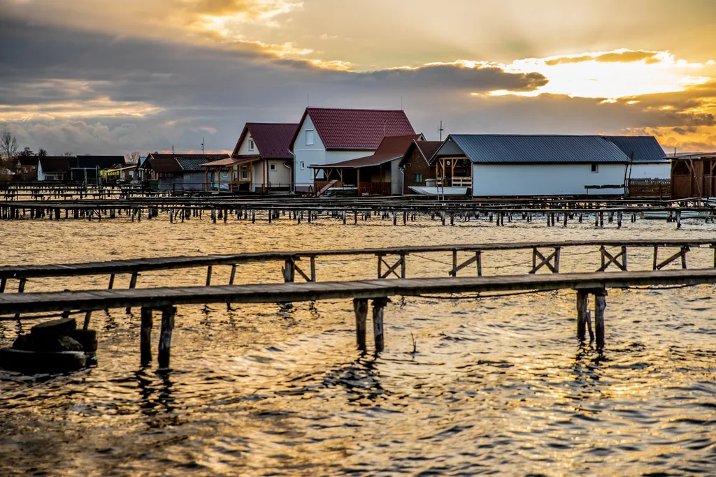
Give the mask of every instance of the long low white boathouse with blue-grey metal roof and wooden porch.
[[627, 162], [604, 137], [567, 135], [450, 134], [432, 158], [445, 193], [475, 197], [621, 195]]

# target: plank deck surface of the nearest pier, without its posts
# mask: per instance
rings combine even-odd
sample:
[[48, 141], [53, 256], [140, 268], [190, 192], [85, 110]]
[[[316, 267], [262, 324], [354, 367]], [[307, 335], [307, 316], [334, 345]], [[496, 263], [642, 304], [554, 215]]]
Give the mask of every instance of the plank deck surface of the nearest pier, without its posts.
[[716, 283], [716, 269], [645, 272], [592, 272], [500, 277], [412, 278], [349, 282], [276, 283], [213, 287], [165, 287], [91, 292], [10, 293], [0, 295], [0, 320], [15, 313], [191, 305], [208, 303], [287, 303], [346, 298], [382, 298], [465, 292], [524, 290], [602, 290], [648, 285]]

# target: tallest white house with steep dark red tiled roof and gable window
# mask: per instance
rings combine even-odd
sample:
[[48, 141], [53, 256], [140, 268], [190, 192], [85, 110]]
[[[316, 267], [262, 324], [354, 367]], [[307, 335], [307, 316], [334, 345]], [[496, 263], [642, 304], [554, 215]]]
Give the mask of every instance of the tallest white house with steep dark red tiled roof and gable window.
[[[415, 134], [405, 112], [394, 109], [306, 108], [291, 139], [294, 190], [308, 192], [314, 185], [311, 166], [367, 157], [384, 137]], [[316, 180], [324, 180], [322, 171]]]

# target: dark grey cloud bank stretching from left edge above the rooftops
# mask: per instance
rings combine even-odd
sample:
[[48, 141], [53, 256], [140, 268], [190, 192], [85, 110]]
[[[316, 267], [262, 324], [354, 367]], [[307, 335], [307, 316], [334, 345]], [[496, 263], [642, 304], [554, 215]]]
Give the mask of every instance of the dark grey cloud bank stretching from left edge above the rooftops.
[[[319, 106], [397, 108], [403, 97], [416, 108], [425, 107], [428, 96], [464, 101], [470, 92], [529, 91], [546, 83], [540, 74], [460, 64], [342, 72], [231, 46], [209, 49], [17, 21], [0, 21], [0, 42], [0, 118], [16, 112], [25, 119], [0, 123], [0, 129], [50, 152], [196, 149], [203, 135], [213, 149], [230, 149], [244, 122], [298, 120], [306, 94]], [[147, 107], [156, 110], [132, 116]]]

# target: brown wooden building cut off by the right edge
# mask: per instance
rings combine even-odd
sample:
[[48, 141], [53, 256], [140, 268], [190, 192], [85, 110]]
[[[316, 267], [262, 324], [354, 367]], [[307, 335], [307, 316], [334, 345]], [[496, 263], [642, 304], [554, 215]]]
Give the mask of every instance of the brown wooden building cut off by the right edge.
[[672, 198], [716, 196], [716, 152], [679, 154], [672, 160]]

